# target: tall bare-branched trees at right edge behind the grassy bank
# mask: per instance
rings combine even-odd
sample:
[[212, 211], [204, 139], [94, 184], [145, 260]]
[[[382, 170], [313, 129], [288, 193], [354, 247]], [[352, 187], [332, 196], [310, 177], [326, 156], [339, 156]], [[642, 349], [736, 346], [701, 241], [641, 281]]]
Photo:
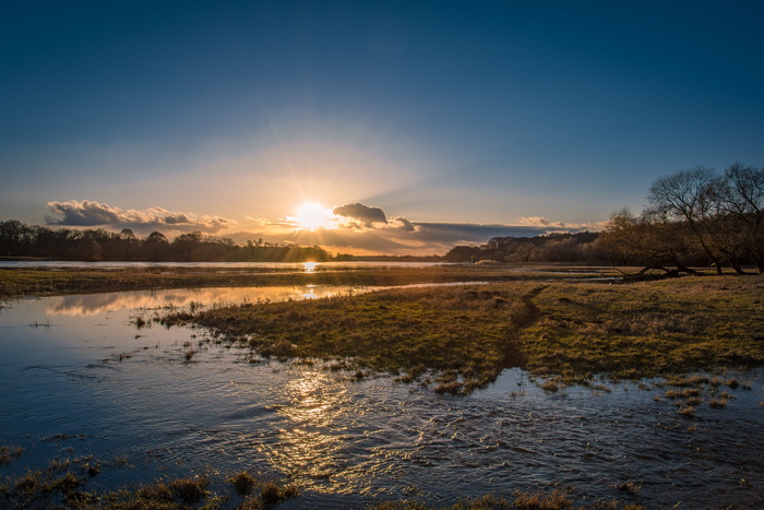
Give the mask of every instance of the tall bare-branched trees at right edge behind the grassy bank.
[[736, 163], [717, 174], [696, 167], [656, 180], [649, 205], [638, 216], [612, 215], [600, 248], [619, 263], [672, 266], [724, 266], [764, 273], [764, 168]]

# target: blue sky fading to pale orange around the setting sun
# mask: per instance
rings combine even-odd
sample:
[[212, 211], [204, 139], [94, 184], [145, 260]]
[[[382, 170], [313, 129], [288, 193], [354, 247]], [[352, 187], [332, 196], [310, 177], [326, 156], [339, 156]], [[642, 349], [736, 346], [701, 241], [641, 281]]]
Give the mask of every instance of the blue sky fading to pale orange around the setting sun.
[[415, 228], [343, 222], [330, 246], [401, 253], [597, 228], [657, 177], [764, 165], [763, 22], [761, 2], [3, 2], [0, 220], [305, 241], [300, 203], [360, 203]]

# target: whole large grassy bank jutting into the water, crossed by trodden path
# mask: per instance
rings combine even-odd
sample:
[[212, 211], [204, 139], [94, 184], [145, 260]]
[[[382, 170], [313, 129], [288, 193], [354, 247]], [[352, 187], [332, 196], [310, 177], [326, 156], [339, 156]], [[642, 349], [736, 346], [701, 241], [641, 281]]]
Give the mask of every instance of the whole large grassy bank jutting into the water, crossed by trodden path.
[[[389, 289], [179, 312], [263, 356], [338, 359], [468, 393], [502, 369], [554, 383], [640, 379], [764, 364], [764, 280], [684, 277], [630, 285], [514, 281]], [[553, 386], [548, 387], [553, 390]]]

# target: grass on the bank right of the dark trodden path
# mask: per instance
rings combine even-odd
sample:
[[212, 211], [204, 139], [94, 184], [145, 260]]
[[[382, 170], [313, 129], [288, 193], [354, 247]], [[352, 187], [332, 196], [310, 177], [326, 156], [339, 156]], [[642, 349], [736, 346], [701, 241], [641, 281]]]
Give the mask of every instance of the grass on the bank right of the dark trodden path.
[[764, 363], [762, 296], [756, 277], [553, 284], [534, 299], [542, 318], [523, 331], [523, 353], [532, 371], [569, 382], [605, 373], [699, 384], [707, 378], [681, 376]]

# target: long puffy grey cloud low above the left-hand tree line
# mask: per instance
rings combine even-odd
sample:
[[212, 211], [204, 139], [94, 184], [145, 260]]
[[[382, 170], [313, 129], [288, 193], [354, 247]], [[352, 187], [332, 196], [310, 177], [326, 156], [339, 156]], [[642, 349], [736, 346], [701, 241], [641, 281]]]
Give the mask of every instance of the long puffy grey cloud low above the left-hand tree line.
[[89, 200], [48, 202], [52, 216], [46, 216], [48, 225], [67, 226], [112, 226], [150, 232], [160, 228], [205, 233], [217, 233], [236, 225], [237, 222], [222, 216], [179, 213], [163, 207], [146, 210], [122, 210]]

